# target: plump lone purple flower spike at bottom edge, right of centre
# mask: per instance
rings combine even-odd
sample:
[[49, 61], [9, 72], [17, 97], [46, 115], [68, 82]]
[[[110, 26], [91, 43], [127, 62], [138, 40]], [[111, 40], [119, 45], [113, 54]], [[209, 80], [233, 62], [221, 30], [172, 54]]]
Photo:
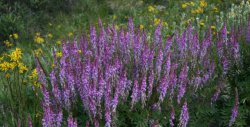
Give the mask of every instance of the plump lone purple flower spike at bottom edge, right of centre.
[[186, 127], [189, 120], [189, 113], [188, 113], [188, 106], [187, 102], [185, 101], [184, 105], [182, 106], [181, 115], [180, 115], [180, 122], [179, 127]]

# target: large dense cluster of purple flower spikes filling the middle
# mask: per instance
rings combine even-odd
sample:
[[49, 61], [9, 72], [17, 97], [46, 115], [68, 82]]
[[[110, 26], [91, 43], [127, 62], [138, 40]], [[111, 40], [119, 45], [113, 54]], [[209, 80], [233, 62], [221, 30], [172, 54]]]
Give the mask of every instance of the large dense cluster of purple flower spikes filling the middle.
[[[62, 57], [54, 55], [55, 68], [50, 77], [37, 62], [44, 96], [43, 126], [61, 126], [62, 110], [71, 112], [79, 96], [92, 124], [99, 126], [104, 114], [105, 126], [110, 127], [119, 103], [129, 102], [132, 108], [141, 103], [143, 107], [155, 93], [159, 95], [157, 104], [175, 98], [178, 104], [184, 103], [179, 125], [186, 126], [189, 114], [183, 98], [188, 89], [202, 88], [213, 78], [214, 54], [218, 54], [223, 74], [240, 57], [236, 32], [227, 35], [226, 25], [217, 36], [216, 53], [212, 50], [211, 30], [199, 39], [192, 25], [165, 42], [161, 23], [152, 40], [145, 31], [135, 29], [132, 19], [128, 30], [118, 31], [114, 25], [105, 28], [101, 21], [99, 26], [98, 31], [91, 26], [90, 38], [83, 35], [63, 43]], [[171, 126], [174, 119], [172, 108]], [[77, 126], [72, 115], [67, 121], [69, 127]]]

